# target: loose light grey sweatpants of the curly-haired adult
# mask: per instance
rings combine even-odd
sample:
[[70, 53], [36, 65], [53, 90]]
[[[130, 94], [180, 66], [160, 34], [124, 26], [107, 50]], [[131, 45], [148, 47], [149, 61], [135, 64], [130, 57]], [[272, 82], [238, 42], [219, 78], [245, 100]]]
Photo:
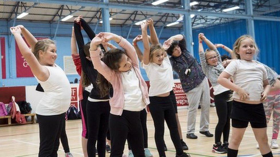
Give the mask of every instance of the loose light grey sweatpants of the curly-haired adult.
[[188, 91], [188, 134], [195, 132], [195, 121], [197, 117], [197, 108], [201, 103], [200, 127], [199, 131], [209, 130], [209, 109], [210, 109], [210, 89], [207, 77], [203, 79], [193, 90]]

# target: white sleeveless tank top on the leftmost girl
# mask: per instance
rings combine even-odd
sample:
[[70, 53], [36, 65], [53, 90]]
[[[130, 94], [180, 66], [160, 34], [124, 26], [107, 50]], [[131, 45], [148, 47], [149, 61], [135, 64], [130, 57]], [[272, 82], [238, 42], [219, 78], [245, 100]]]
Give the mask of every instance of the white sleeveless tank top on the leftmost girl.
[[58, 65], [45, 67], [50, 73], [49, 78], [42, 82], [35, 77], [44, 89], [44, 96], [37, 105], [36, 114], [43, 116], [62, 114], [68, 110], [71, 101], [69, 80]]

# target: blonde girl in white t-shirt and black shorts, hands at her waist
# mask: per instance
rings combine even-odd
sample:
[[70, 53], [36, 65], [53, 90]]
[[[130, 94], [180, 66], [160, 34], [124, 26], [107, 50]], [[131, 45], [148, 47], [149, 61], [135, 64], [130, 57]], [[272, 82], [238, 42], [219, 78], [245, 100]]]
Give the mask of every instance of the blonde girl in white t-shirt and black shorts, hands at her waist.
[[[233, 46], [237, 60], [233, 60], [220, 74], [218, 83], [234, 91], [232, 105], [232, 136], [228, 156], [235, 157], [250, 122], [264, 157], [273, 156], [268, 145], [267, 123], [263, 101], [270, 90], [265, 67], [253, 60], [258, 47], [251, 36], [239, 37]], [[230, 76], [234, 83], [230, 82]]]

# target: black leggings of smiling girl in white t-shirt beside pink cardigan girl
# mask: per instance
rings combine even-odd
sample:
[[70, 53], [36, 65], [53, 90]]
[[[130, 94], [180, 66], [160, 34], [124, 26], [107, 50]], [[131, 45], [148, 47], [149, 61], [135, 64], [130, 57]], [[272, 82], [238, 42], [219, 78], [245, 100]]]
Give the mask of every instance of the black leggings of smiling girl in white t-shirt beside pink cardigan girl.
[[170, 96], [167, 97], [150, 97], [149, 109], [155, 126], [155, 144], [158, 149], [159, 156], [165, 156], [164, 152], [164, 120], [170, 131], [172, 142], [176, 149], [176, 154], [183, 153], [174, 106]]

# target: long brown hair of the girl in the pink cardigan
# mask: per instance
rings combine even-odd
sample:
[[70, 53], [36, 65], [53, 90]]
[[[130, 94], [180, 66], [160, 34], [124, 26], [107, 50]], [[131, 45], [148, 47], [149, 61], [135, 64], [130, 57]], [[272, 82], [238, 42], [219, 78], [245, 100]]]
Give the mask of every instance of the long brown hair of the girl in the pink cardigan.
[[[118, 71], [120, 68], [119, 62], [123, 55], [126, 55], [126, 53], [120, 49], [110, 49], [104, 54], [101, 60], [110, 67], [110, 69]], [[108, 82], [108, 80], [106, 80], [100, 73], [97, 75], [96, 83], [100, 89], [100, 96], [104, 97], [108, 95], [112, 84], [110, 84], [110, 82]]]

